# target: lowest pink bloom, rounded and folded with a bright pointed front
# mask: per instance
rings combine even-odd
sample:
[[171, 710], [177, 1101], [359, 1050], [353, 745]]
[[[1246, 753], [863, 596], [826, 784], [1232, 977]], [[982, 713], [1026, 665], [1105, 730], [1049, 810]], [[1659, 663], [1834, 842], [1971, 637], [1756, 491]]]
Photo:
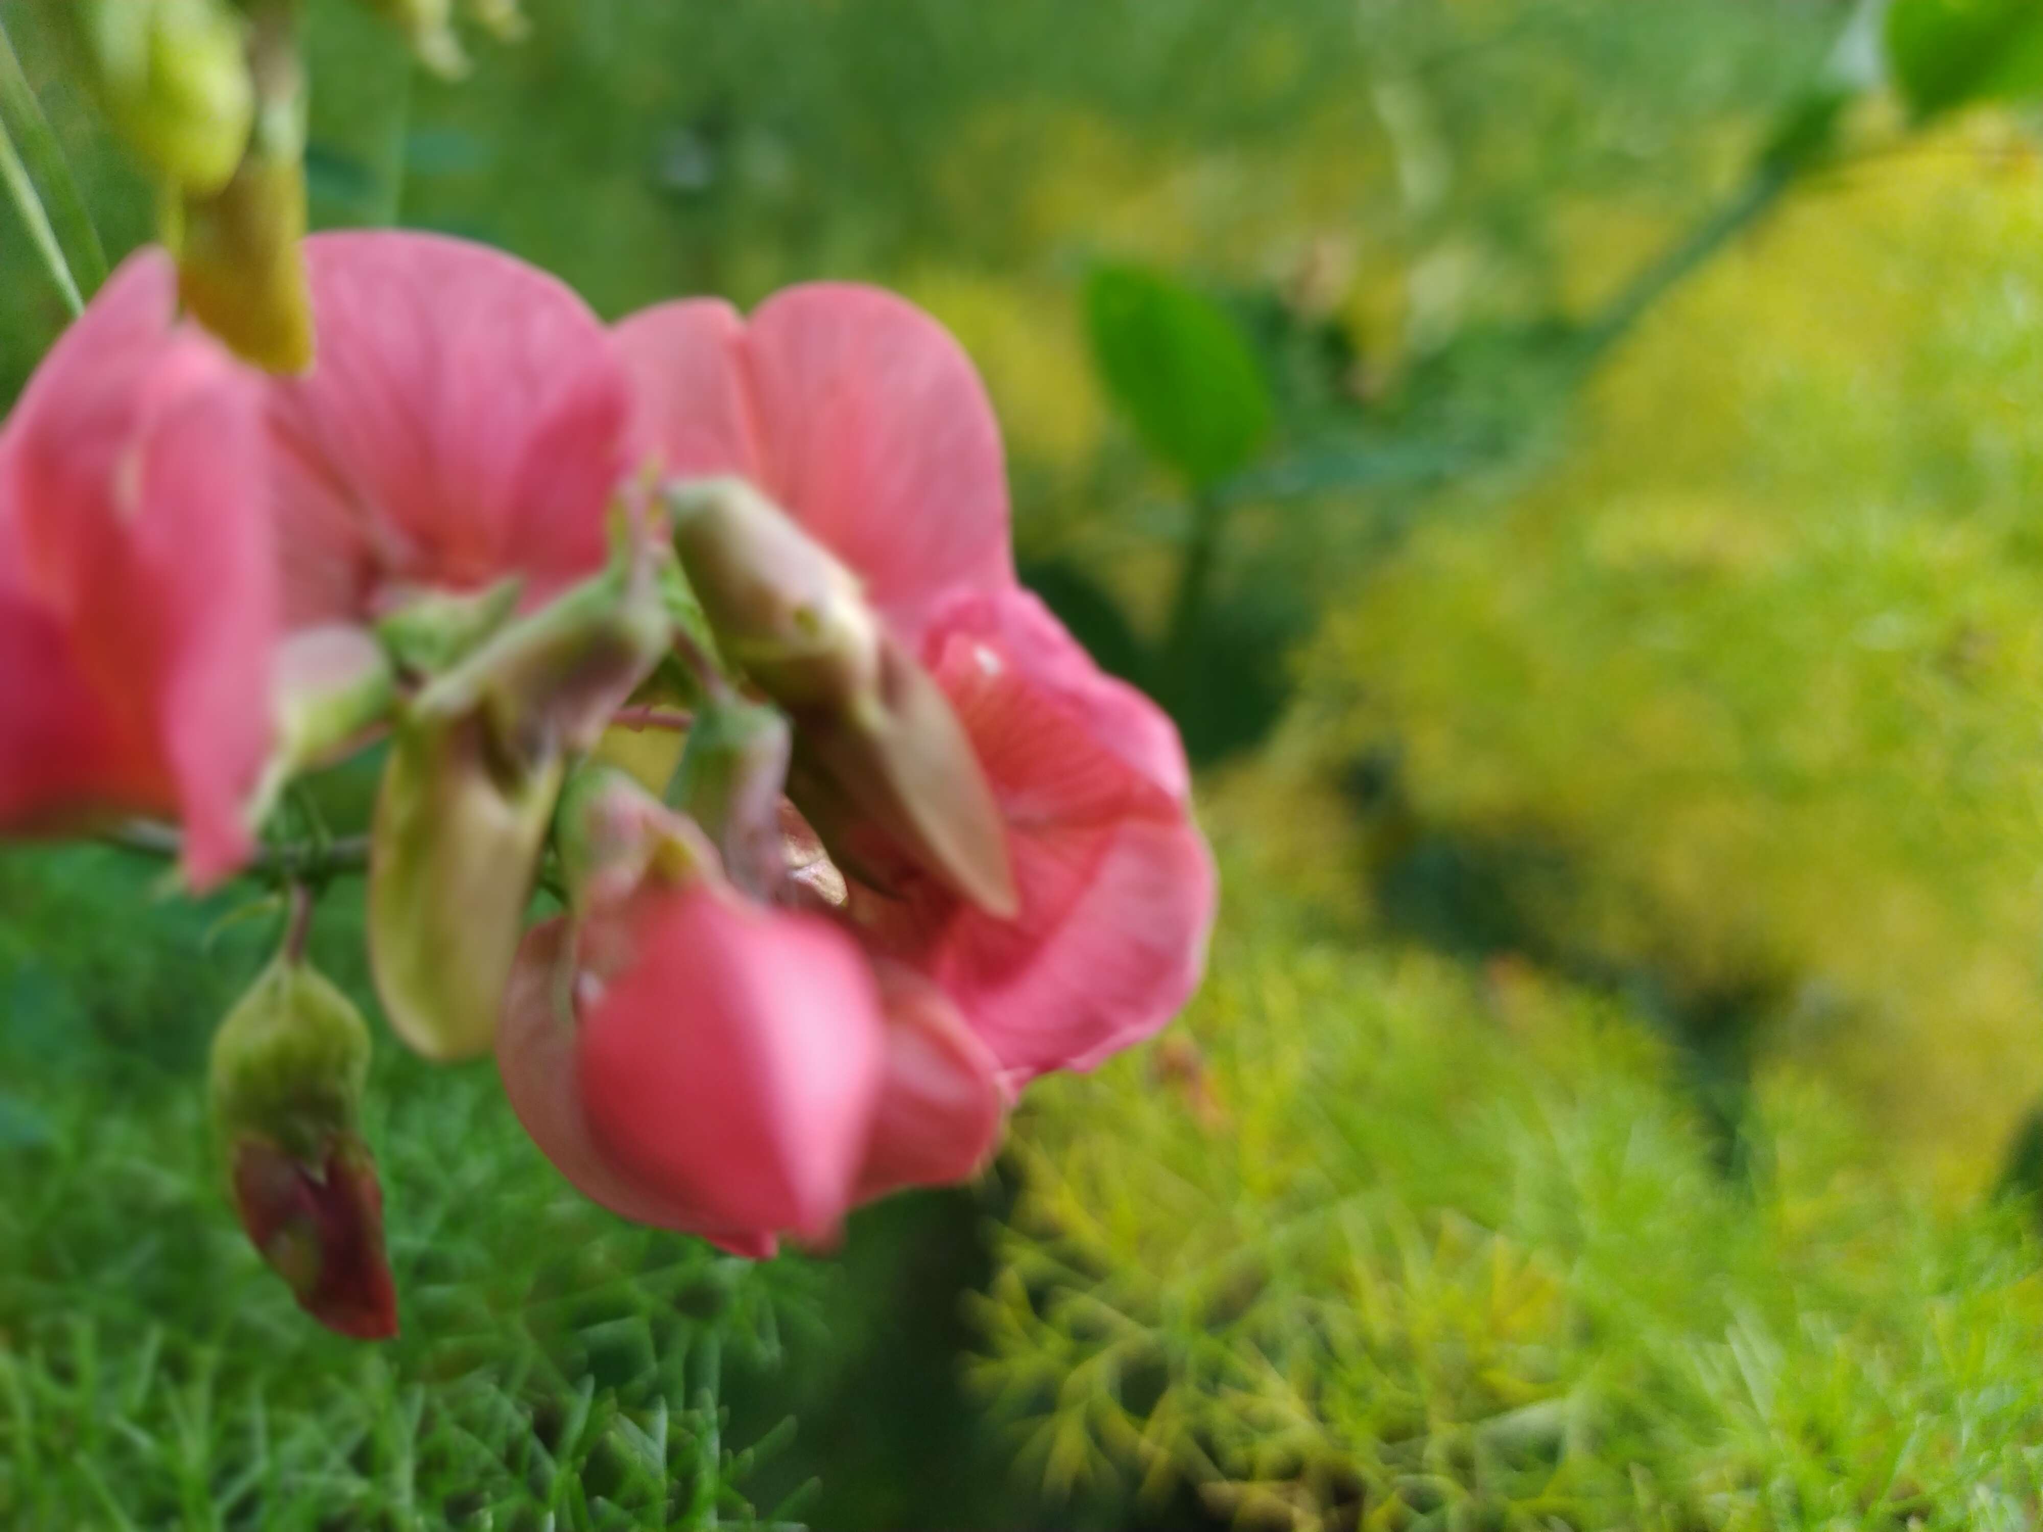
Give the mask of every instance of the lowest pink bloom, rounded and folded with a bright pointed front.
[[[817, 915], [693, 878], [525, 940], [498, 1030], [511, 1105], [588, 1197], [764, 1256], [852, 1205], [881, 1093], [870, 968]], [[572, 1015], [564, 995], [572, 993]]]

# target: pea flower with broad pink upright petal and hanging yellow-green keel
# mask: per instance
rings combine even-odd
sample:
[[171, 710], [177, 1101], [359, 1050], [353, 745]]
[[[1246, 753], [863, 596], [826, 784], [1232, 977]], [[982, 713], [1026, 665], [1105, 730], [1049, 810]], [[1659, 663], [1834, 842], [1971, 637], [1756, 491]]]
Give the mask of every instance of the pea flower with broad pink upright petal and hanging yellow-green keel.
[[268, 388], [284, 615], [374, 625], [417, 672], [370, 960], [396, 1032], [468, 1058], [496, 1030], [562, 752], [664, 637], [629, 560], [605, 576], [629, 386], [588, 306], [509, 255], [415, 233], [304, 255], [317, 362]]

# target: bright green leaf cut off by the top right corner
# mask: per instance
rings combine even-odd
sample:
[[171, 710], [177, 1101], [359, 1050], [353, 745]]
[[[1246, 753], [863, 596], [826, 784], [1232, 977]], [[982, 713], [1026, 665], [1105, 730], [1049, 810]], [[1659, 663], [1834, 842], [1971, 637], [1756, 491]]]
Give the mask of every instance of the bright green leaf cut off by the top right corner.
[[1888, 65], [1916, 121], [2043, 94], [2037, 0], [1894, 0]]

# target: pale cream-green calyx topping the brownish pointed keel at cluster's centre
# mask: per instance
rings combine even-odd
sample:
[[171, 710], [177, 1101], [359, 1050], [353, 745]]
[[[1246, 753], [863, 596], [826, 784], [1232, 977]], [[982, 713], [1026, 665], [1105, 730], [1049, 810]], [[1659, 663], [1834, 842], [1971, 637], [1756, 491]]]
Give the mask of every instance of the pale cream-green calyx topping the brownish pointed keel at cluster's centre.
[[878, 680], [858, 578], [744, 480], [668, 492], [674, 552], [723, 654], [791, 709], [850, 707]]

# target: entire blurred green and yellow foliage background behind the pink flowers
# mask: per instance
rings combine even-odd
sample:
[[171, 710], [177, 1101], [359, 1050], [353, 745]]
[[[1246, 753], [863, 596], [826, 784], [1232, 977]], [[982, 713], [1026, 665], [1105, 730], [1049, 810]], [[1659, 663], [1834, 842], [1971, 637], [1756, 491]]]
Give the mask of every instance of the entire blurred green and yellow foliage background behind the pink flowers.
[[[315, 219], [942, 317], [1201, 764], [1211, 978], [758, 1268], [384, 1046], [360, 1350], [202, 1134], [274, 913], [6, 852], [0, 1524], [2033, 1526], [2043, 161], [1937, 84], [2027, 10], [1853, 94], [1820, 0], [527, 8], [449, 86], [313, 4]], [[63, 310], [0, 259], [12, 388]]]

